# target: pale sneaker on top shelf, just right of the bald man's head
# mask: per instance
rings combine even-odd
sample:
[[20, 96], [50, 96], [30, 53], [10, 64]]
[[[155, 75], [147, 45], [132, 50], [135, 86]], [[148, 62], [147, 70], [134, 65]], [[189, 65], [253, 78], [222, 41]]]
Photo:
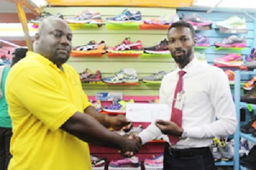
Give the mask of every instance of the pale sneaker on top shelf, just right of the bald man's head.
[[66, 18], [66, 22], [79, 24], [102, 24], [102, 18], [99, 12], [85, 10], [78, 16]]

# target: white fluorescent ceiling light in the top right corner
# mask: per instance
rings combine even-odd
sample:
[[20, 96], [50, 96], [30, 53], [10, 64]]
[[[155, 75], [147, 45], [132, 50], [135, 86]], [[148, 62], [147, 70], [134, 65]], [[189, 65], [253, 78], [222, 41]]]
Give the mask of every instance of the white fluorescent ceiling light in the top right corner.
[[[220, 4], [218, 4], [221, 1]], [[255, 0], [196, 0], [193, 4], [194, 7], [214, 7], [216, 4], [217, 7], [227, 7], [227, 8], [248, 8], [256, 9]]]

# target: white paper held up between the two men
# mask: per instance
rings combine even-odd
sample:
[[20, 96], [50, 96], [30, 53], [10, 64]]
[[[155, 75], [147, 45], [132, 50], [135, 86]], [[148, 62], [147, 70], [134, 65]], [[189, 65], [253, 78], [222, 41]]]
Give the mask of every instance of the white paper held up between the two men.
[[126, 118], [132, 122], [154, 122], [157, 119], [170, 120], [171, 110], [166, 104], [127, 103]]

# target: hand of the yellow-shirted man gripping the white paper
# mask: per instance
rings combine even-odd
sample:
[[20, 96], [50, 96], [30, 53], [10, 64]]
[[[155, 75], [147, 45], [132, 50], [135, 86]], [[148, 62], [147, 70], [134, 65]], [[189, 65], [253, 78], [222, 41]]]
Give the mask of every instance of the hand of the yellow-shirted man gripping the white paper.
[[132, 129], [132, 125], [132, 122], [126, 119], [124, 115], [119, 114], [110, 118], [110, 126], [114, 130], [122, 129], [123, 131], [128, 132], [130, 129]]

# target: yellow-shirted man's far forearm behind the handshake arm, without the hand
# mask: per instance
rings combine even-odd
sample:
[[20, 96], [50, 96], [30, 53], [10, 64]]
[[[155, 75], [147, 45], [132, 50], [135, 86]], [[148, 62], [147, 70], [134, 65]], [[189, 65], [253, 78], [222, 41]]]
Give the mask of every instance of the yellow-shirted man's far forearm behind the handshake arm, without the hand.
[[110, 123], [111, 117], [108, 116], [107, 114], [100, 114], [100, 112], [98, 112], [94, 107], [89, 106], [84, 110], [84, 112], [86, 114], [89, 114], [89, 116], [98, 120], [98, 122], [100, 122], [100, 124], [102, 124], [106, 128], [109, 128], [111, 126], [111, 123]]

